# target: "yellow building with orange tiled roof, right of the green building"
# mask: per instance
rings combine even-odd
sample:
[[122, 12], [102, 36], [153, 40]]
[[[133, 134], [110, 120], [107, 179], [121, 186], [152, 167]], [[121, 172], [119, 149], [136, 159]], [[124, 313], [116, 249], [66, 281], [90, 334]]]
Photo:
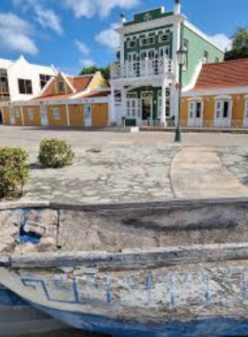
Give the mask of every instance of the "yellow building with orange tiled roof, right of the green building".
[[248, 128], [248, 59], [203, 65], [194, 88], [182, 94], [181, 124]]

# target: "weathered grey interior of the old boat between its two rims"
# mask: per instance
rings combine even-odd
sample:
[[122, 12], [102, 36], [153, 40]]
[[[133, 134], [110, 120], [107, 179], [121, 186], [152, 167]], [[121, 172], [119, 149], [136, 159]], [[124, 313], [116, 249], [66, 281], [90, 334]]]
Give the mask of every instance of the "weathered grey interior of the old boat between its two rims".
[[[0, 210], [0, 216], [4, 212], [9, 218], [28, 212], [47, 215], [39, 223], [47, 226], [52, 234], [46, 233], [39, 246], [19, 246], [18, 220], [12, 221], [12, 225], [6, 227], [10, 241], [4, 236], [2, 240], [10, 253], [46, 249], [55, 251], [58, 248], [65, 252], [119, 252], [133, 248], [248, 242], [246, 199], [105, 206], [50, 204], [50, 208], [31, 203], [26, 207]], [[0, 222], [4, 220], [0, 219]], [[31, 223], [27, 222], [26, 228], [34, 227], [32, 223], [37, 221], [31, 216]], [[0, 247], [2, 241], [0, 239]], [[4, 247], [0, 251], [5, 252]]]

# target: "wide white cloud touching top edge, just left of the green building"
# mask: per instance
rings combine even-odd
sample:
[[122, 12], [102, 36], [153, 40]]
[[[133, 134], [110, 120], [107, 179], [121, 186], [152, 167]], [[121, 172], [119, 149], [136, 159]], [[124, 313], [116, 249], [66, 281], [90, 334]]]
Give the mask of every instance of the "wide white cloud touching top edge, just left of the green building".
[[141, 0], [65, 0], [76, 18], [92, 18], [95, 15], [106, 17], [113, 8], [130, 9], [140, 4]]

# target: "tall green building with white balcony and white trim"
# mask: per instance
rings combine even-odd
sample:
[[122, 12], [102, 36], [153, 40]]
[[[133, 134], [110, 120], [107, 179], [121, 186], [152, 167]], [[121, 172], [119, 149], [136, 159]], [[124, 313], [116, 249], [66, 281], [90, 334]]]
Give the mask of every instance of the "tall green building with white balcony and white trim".
[[134, 20], [122, 16], [120, 60], [112, 64], [112, 123], [167, 125], [178, 115], [179, 67], [177, 51], [188, 51], [182, 82], [189, 90], [203, 63], [223, 60], [224, 52], [181, 12], [164, 7], [137, 13]]

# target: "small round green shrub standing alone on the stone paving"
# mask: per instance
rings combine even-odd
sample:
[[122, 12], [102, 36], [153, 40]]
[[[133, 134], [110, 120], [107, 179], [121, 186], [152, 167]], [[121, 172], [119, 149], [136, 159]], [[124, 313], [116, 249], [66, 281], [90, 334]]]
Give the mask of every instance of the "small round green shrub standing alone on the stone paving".
[[72, 146], [64, 140], [44, 139], [40, 144], [38, 160], [44, 168], [57, 169], [74, 162]]

